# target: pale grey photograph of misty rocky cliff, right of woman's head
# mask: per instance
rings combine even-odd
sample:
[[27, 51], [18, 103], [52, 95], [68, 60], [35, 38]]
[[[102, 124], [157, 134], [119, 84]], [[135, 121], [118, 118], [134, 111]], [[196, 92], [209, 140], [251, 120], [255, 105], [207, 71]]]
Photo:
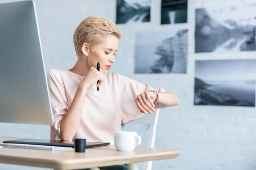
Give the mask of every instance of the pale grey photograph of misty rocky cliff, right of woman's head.
[[188, 30], [138, 32], [135, 74], [186, 73]]

